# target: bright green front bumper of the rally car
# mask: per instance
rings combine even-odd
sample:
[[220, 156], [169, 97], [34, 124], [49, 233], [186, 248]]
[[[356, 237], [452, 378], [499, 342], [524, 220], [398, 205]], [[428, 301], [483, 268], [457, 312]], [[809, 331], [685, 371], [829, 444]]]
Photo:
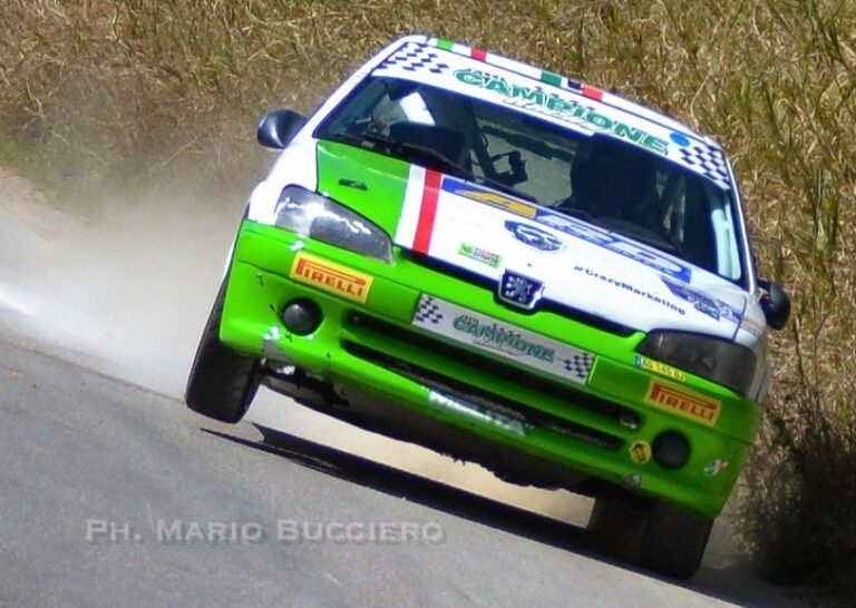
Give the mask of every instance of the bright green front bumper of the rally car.
[[[370, 277], [370, 285], [362, 292], [323, 277], [314, 285], [295, 281], [301, 252]], [[421, 331], [414, 314], [422, 293], [553, 340], [573, 336], [563, 342], [595, 355], [587, 382], [563, 382]], [[280, 318], [296, 298], [311, 300], [323, 315], [307, 336], [289, 333]], [[493, 445], [567, 470], [567, 480], [597, 478], [716, 517], [753, 440], [757, 408], [689, 374], [681, 383], [687, 391], [720, 403], [714, 424], [646, 404], [652, 379], [673, 379], [636, 366], [642, 337], [551, 311], [521, 314], [497, 305], [489, 286], [406, 256], [388, 265], [252, 222], [243, 223], [235, 243], [221, 322], [221, 340], [233, 349], [293, 363], [400, 408], [409, 420], [425, 419], [426, 428], [464, 433], [479, 453]], [[644, 455], [665, 431], [678, 431], [691, 447], [677, 470]], [[412, 441], [432, 444], [428, 435]], [[538, 471], [532, 479], [537, 484]]]

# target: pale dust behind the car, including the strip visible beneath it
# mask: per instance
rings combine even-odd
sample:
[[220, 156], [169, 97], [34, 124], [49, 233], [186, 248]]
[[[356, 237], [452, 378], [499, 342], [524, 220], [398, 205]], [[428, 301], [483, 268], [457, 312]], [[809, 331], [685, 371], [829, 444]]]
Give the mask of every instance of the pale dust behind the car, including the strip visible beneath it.
[[[107, 193], [71, 214], [8, 171], [0, 196], [2, 323], [41, 350], [181, 399], [243, 200]], [[588, 499], [504, 483], [266, 390], [247, 419], [577, 526], [591, 510]]]

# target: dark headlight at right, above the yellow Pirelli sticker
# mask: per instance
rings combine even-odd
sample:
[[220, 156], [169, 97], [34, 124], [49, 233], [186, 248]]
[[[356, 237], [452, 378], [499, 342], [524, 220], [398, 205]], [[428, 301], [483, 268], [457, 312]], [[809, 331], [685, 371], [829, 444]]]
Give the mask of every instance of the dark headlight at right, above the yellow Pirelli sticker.
[[746, 395], [755, 377], [757, 357], [727, 340], [679, 332], [651, 332], [636, 351], [687, 372], [707, 377]]

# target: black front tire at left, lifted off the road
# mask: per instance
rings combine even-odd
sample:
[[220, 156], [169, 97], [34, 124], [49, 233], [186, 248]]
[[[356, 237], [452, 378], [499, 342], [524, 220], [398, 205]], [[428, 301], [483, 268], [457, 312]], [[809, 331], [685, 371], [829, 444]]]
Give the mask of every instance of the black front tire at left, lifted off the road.
[[259, 390], [259, 360], [237, 354], [220, 341], [225, 285], [223, 281], [202, 332], [184, 401], [194, 412], [234, 424]]

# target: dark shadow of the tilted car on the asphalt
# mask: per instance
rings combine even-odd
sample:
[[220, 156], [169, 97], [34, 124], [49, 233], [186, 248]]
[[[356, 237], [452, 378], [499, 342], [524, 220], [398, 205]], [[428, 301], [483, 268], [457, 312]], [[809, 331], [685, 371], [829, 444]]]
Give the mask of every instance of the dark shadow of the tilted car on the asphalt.
[[770, 589], [765, 584], [748, 579], [746, 569], [730, 566], [716, 568], [702, 563], [689, 581], [659, 576], [633, 566], [626, 550], [584, 528], [506, 504], [467, 490], [455, 488], [360, 455], [315, 443], [262, 424], [252, 424], [262, 441], [253, 441], [214, 429], [204, 433], [254, 450], [275, 454], [320, 473], [371, 488], [388, 496], [418, 502], [425, 507], [570, 551], [607, 562], [740, 606], [770, 606]]

